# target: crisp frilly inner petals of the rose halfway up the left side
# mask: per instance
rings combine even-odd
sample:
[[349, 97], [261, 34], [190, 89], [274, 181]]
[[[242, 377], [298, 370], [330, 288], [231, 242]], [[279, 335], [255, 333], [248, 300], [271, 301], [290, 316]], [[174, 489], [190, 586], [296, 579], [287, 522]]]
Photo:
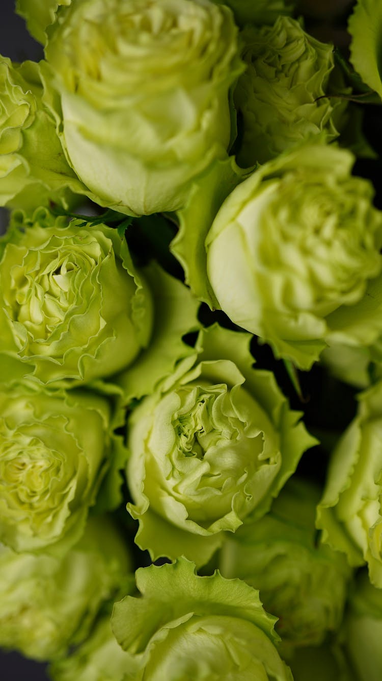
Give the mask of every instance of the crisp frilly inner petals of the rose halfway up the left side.
[[9, 259], [16, 262], [4, 272], [3, 298], [16, 343], [27, 356], [56, 353], [61, 358], [60, 341], [69, 324], [88, 310], [99, 244], [82, 234], [64, 234], [29, 249], [12, 248]]

